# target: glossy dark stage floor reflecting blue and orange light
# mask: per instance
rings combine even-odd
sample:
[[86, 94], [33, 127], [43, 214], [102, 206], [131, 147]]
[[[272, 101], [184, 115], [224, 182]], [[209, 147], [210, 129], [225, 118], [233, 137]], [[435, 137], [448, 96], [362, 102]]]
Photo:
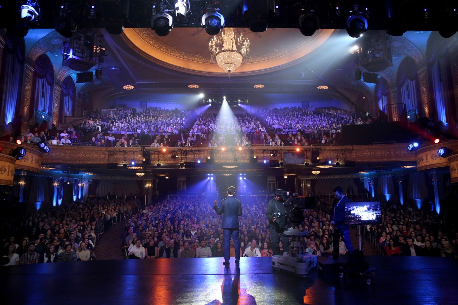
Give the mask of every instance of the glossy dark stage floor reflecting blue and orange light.
[[[0, 267], [2, 304], [458, 304], [458, 260], [366, 256], [371, 286], [316, 269], [274, 272], [268, 257], [106, 260]], [[320, 260], [322, 261], [322, 260]]]

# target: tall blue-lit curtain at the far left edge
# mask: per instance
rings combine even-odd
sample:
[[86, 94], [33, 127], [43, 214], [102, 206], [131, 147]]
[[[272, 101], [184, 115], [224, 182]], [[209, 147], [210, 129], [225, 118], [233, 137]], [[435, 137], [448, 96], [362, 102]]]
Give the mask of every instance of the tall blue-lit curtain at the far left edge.
[[0, 125], [13, 121], [21, 103], [22, 76], [24, 71], [24, 39], [6, 35], [5, 54], [1, 71], [1, 115]]

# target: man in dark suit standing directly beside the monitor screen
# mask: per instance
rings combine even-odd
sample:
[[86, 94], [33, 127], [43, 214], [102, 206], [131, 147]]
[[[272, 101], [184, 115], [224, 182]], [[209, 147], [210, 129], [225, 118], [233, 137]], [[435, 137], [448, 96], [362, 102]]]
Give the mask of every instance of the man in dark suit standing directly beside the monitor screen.
[[348, 224], [345, 223], [345, 203], [351, 202], [351, 200], [344, 195], [344, 190], [340, 186], [334, 189], [334, 207], [331, 212], [331, 224], [333, 225], [333, 259], [337, 261], [339, 259], [339, 240], [342, 236], [342, 240], [347, 246], [349, 253], [353, 253], [353, 245], [350, 240], [350, 230]]

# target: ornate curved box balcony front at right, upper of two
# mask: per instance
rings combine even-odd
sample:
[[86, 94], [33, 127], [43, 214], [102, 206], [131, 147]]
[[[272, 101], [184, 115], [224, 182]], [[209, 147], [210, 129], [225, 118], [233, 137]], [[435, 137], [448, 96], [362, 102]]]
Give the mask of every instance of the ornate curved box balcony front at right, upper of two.
[[439, 143], [428, 147], [420, 148], [417, 151], [417, 171], [425, 169], [435, 169], [438, 167], [448, 166], [448, 159], [437, 155], [440, 147], [447, 147], [454, 151], [458, 150], [458, 141]]

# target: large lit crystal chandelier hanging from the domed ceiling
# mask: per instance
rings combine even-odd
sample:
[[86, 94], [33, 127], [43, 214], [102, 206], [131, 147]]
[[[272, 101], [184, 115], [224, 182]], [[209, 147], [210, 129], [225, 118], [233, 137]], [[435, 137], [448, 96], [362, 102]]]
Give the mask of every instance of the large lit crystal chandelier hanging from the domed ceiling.
[[208, 50], [212, 59], [216, 58], [219, 67], [230, 76], [231, 72], [240, 67], [242, 60], [246, 59], [247, 54], [250, 53], [250, 41], [243, 38], [242, 34], [235, 38], [234, 30], [226, 27], [221, 35], [215, 36], [210, 41]]

